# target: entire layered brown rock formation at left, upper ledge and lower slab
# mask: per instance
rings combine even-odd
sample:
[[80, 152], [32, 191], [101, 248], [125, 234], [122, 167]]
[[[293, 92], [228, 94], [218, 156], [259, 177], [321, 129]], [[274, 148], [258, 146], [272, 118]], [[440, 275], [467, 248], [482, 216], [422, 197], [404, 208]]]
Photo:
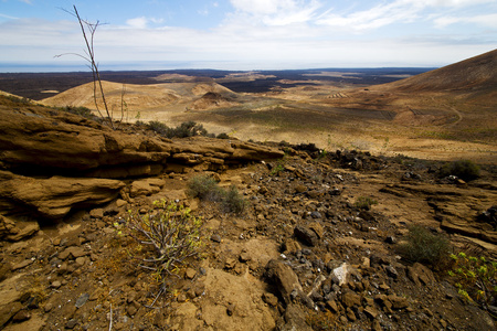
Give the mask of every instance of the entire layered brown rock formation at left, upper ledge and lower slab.
[[126, 186], [123, 179], [281, 157], [277, 149], [248, 142], [112, 130], [63, 110], [2, 98], [0, 214], [63, 218], [73, 209], [116, 199]]

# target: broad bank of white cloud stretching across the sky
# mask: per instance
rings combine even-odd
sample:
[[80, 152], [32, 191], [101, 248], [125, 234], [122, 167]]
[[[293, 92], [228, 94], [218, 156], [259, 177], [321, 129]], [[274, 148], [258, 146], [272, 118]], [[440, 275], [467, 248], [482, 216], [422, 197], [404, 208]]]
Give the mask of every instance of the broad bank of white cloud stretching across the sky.
[[[374, 1], [367, 2], [366, 9], [341, 11], [316, 0], [230, 1], [234, 10], [218, 28], [205, 31], [158, 26], [162, 20], [147, 17], [133, 18], [121, 26], [104, 24], [95, 35], [98, 61], [215, 61], [218, 68], [236, 62], [239, 67], [229, 67], [234, 70], [431, 66], [495, 47], [489, 34], [482, 36], [479, 26], [497, 29], [497, 13], [470, 15], [477, 11], [455, 9], [486, 0]], [[424, 33], [432, 35], [414, 29], [398, 33], [400, 38], [388, 34], [391, 29], [384, 29], [381, 39], [380, 33], [370, 33], [399, 22], [422, 23]], [[470, 26], [464, 25], [463, 31], [455, 25], [462, 23]], [[473, 30], [467, 32], [466, 28]], [[81, 53], [84, 49], [77, 22], [32, 19], [0, 23], [0, 61], [6, 62], [20, 56], [27, 61], [54, 61], [56, 54]]]

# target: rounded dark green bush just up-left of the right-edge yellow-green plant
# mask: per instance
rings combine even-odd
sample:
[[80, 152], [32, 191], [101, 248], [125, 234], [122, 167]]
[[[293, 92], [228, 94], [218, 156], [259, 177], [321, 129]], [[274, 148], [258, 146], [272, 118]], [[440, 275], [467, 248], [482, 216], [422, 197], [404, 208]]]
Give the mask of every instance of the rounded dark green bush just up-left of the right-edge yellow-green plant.
[[399, 254], [410, 261], [435, 266], [450, 250], [447, 238], [435, 235], [420, 225], [411, 225], [405, 243], [399, 244]]

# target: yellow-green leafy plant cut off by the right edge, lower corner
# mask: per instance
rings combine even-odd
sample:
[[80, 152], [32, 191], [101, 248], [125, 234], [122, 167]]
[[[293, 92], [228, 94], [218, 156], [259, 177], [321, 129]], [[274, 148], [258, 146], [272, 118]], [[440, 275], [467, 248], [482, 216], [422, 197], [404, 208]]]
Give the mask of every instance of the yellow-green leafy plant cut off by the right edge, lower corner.
[[[497, 301], [497, 261], [484, 256], [467, 256], [464, 252], [451, 254], [454, 261], [448, 275], [455, 278], [459, 295], [482, 308], [495, 306]], [[497, 318], [497, 316], [494, 316]]]

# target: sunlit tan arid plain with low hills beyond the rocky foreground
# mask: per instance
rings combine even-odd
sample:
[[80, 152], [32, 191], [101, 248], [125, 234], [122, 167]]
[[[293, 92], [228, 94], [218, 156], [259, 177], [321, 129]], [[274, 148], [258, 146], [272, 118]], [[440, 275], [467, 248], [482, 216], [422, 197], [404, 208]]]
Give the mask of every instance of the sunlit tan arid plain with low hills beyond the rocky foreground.
[[[277, 81], [261, 72], [215, 77], [161, 74], [150, 78], [154, 84], [105, 82], [105, 90], [114, 116], [121, 118], [124, 108], [123, 120], [129, 122], [159, 120], [176, 126], [193, 120], [210, 132], [242, 140], [314, 142], [327, 150], [495, 163], [496, 63], [497, 51], [493, 51], [419, 75], [384, 73], [390, 81], [406, 78], [376, 85], [351, 71], [324, 70], [302, 74], [300, 79]], [[264, 92], [236, 93], [223, 86], [267, 79], [273, 85]], [[93, 84], [41, 103], [94, 109]]]

